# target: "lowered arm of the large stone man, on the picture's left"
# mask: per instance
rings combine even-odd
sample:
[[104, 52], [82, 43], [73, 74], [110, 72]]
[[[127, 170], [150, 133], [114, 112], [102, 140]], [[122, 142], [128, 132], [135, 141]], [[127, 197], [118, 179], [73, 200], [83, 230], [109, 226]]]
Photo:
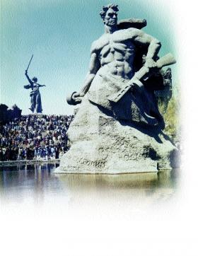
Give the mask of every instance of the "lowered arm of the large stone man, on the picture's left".
[[83, 88], [78, 93], [72, 93], [71, 97], [67, 98], [67, 103], [69, 103], [70, 105], [76, 105], [78, 103], [81, 103], [82, 98], [88, 92], [88, 89], [90, 88], [93, 78], [95, 77], [98, 69], [100, 69], [100, 60], [98, 59], [98, 54], [96, 52], [92, 52], [89, 71], [86, 75]]

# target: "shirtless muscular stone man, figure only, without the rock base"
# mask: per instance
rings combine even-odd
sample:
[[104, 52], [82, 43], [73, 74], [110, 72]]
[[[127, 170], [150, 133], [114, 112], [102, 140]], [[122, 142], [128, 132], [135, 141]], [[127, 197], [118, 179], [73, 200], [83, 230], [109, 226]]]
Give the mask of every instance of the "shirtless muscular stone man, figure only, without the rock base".
[[[100, 16], [105, 25], [105, 33], [91, 46], [91, 62], [86, 81], [78, 93], [73, 93], [68, 103], [81, 103], [87, 94], [88, 100], [104, 108], [119, 120], [131, 120], [139, 124], [149, 124], [164, 128], [163, 118], [158, 111], [156, 98], [150, 86], [135, 79], [136, 51], [146, 47], [144, 66], [148, 71], [156, 68], [161, 42], [136, 28], [120, 29], [117, 26], [117, 5], [103, 6]], [[143, 61], [143, 60], [142, 60]], [[110, 95], [122, 91], [124, 84], [133, 78], [132, 90], [117, 103], [109, 100]]]

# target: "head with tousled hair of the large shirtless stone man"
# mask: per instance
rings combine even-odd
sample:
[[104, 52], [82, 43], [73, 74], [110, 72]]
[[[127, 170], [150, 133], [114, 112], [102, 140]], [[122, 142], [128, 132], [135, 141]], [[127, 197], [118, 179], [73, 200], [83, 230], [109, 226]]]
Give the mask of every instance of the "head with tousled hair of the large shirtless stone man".
[[115, 4], [108, 4], [103, 6], [100, 11], [100, 16], [103, 19], [103, 23], [110, 27], [117, 25], [117, 12], [119, 11], [118, 6]]

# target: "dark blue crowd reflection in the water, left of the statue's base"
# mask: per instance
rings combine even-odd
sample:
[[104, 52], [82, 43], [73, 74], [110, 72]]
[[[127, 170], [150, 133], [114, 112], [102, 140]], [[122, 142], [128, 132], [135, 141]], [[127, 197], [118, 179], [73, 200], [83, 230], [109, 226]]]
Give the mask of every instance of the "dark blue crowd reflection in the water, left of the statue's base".
[[1, 166], [1, 201], [22, 202], [31, 198], [33, 202], [40, 203], [45, 198], [45, 194], [48, 197], [50, 194], [57, 194], [62, 187], [59, 185], [59, 179], [52, 174], [55, 168], [57, 168], [55, 163]]

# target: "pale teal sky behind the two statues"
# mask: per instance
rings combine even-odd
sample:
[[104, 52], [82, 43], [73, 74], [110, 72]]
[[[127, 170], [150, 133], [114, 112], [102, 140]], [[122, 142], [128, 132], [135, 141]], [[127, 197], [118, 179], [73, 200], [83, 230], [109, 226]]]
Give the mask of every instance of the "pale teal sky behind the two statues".
[[83, 86], [91, 43], [104, 33], [100, 9], [110, 3], [119, 6], [118, 20], [146, 18], [143, 30], [162, 42], [159, 55], [172, 52], [177, 59], [174, 16], [166, 1], [1, 0], [1, 103], [30, 113], [30, 90], [23, 86], [34, 54], [28, 74], [46, 85], [40, 88], [43, 114], [73, 113], [66, 96]]

